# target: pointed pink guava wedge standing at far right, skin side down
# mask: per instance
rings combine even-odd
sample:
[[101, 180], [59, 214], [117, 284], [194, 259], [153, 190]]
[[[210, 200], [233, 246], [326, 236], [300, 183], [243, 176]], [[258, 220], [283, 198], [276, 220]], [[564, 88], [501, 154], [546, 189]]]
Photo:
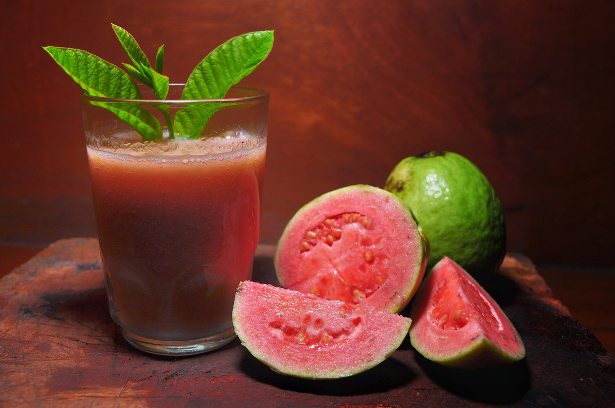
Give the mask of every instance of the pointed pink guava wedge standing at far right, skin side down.
[[485, 369], [525, 357], [523, 341], [502, 309], [448, 256], [423, 280], [410, 318], [416, 351], [443, 366]]

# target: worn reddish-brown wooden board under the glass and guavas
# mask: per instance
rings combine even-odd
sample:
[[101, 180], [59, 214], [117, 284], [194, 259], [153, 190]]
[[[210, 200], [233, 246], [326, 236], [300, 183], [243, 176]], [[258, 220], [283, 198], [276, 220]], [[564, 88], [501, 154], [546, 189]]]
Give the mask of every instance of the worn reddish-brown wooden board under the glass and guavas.
[[[254, 280], [276, 283], [271, 254]], [[187, 358], [141, 353], [107, 310], [94, 239], [61, 240], [0, 280], [0, 406], [614, 406], [615, 358], [552, 296], [530, 259], [509, 254], [485, 283], [526, 345], [523, 361], [444, 369], [405, 340], [347, 379], [272, 372], [235, 340]]]

